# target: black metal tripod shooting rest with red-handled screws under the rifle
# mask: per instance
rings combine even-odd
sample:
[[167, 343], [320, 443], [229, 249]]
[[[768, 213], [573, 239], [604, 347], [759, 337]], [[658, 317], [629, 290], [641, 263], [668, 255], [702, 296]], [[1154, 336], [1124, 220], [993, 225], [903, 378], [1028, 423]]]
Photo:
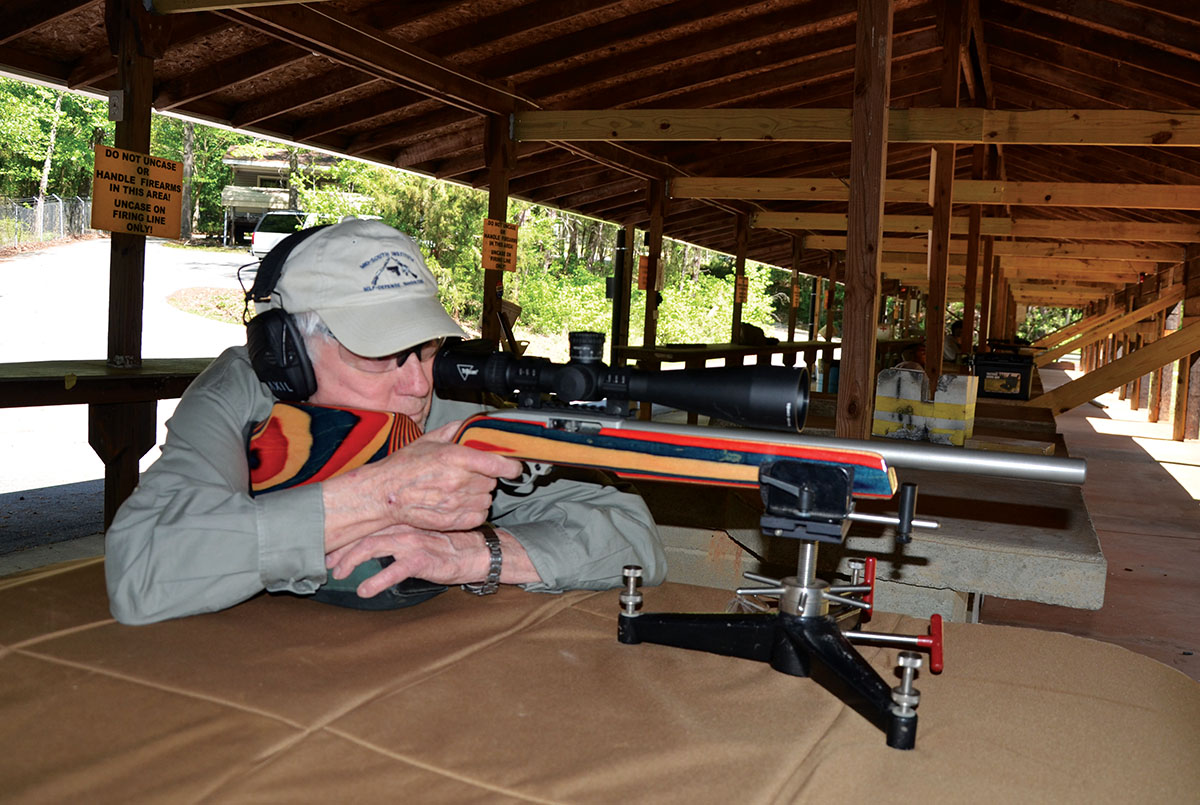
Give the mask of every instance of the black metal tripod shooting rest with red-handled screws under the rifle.
[[[793, 677], [811, 677], [838, 695], [887, 735], [893, 749], [913, 749], [917, 739], [916, 708], [920, 701], [913, 677], [922, 665], [914, 651], [901, 651], [901, 684], [889, 687], [882, 677], [852, 645], [853, 639], [917, 645], [931, 651], [930, 667], [942, 669], [942, 623], [930, 620], [931, 635], [907, 636], [882, 632], [842, 631], [842, 624], [857, 625], [872, 608], [874, 560], [864, 563], [864, 576], [847, 585], [830, 585], [816, 577], [821, 542], [841, 543], [854, 519], [854, 468], [778, 461], [760, 468], [764, 511], [762, 530], [776, 537], [800, 541], [796, 576], [782, 579], [749, 575], [769, 587], [744, 588], [742, 595], [778, 596], [778, 612], [692, 614], [642, 613], [637, 590], [641, 567], [625, 567], [623, 611], [618, 615], [617, 638], [622, 643], [656, 643], [724, 656], [766, 662]], [[911, 539], [917, 505], [917, 487], [904, 485], [900, 513], [895, 518], [899, 542]], [[875, 518], [877, 519], [877, 518]], [[862, 582], [869, 582], [863, 584]], [[852, 596], [862, 597], [852, 597]], [[836, 605], [832, 609], [830, 605]]]

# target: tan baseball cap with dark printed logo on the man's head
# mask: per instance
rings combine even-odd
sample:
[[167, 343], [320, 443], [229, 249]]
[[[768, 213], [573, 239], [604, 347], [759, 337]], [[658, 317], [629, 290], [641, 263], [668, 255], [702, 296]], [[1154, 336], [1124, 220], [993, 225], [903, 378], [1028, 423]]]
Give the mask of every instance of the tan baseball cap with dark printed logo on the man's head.
[[438, 301], [416, 244], [380, 221], [344, 221], [304, 240], [283, 263], [276, 305], [316, 311], [335, 338], [367, 358], [466, 336]]

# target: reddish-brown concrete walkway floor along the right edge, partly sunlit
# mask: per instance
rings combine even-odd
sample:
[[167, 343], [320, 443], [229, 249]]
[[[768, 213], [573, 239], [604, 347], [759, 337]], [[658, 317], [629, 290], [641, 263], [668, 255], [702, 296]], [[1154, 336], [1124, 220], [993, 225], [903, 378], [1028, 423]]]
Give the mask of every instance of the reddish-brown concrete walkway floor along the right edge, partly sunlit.
[[[1076, 373], [1072, 373], [1076, 374]], [[1050, 389], [1066, 372], [1042, 372]], [[1057, 417], [1087, 461], [1084, 499], [1108, 560], [1098, 611], [990, 597], [983, 623], [1069, 632], [1123, 645], [1200, 680], [1200, 443], [1172, 441], [1116, 394]]]

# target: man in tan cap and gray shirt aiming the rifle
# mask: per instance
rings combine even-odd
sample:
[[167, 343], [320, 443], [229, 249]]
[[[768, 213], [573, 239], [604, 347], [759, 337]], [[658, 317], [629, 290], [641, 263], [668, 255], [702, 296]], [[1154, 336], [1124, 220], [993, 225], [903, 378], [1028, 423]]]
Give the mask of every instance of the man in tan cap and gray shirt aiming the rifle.
[[214, 612], [264, 589], [313, 594], [360, 566], [378, 569], [356, 584], [364, 601], [408, 578], [491, 582], [482, 591], [497, 581], [605, 589], [638, 564], [648, 583], [662, 579], [662, 548], [636, 494], [563, 475], [518, 494], [497, 487], [521, 474], [518, 462], [451, 444], [481, 408], [433, 395], [437, 346], [462, 331], [407, 235], [348, 221], [288, 246], [259, 316], [275, 312], [302, 334], [308, 402], [398, 411], [425, 433], [323, 482], [251, 497], [247, 437], [276, 400], [246, 347], [226, 350], [184, 394], [162, 456], [108, 530], [118, 620]]

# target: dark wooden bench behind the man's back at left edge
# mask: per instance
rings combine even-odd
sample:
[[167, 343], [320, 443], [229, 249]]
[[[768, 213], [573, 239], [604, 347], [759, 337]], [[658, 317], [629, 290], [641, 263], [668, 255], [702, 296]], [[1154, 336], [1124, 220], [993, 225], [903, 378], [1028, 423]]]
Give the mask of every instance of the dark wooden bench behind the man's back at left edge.
[[138, 483], [156, 441], [160, 400], [173, 400], [211, 358], [162, 358], [137, 368], [102, 360], [0, 364], [0, 408], [88, 405], [88, 443], [104, 462], [104, 527]]

